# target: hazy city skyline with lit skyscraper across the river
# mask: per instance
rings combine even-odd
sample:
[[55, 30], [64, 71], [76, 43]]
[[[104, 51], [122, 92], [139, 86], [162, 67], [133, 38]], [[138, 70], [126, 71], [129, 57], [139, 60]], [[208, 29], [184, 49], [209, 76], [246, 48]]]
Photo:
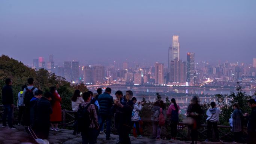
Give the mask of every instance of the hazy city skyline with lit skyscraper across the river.
[[33, 59], [32, 68], [44, 68], [72, 83], [86, 85], [159, 85], [159, 86], [234, 86], [237, 81], [245, 88], [256, 87], [256, 58], [253, 64], [195, 62], [195, 53], [187, 52], [186, 61], [180, 59], [179, 36], [174, 35], [168, 48], [168, 65], [156, 62], [141, 66], [137, 62], [113, 62], [110, 65], [79, 65], [78, 61], [54, 63], [49, 55]]

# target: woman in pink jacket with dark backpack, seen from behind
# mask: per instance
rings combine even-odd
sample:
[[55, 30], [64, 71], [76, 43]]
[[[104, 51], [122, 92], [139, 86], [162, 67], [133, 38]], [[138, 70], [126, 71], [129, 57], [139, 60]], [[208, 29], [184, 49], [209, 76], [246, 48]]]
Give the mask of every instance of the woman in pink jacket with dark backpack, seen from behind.
[[171, 105], [168, 107], [167, 116], [171, 118], [171, 137], [177, 140], [177, 125], [179, 123], [180, 106], [176, 103], [176, 99], [171, 99]]

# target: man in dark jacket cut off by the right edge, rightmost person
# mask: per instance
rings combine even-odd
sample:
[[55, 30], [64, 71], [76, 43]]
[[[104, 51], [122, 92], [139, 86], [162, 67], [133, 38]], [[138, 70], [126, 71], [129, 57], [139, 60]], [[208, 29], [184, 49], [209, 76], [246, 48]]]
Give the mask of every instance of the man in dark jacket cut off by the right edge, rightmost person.
[[248, 119], [247, 144], [255, 144], [256, 143], [256, 100], [250, 99], [247, 102], [248, 102], [249, 107], [252, 108], [252, 112], [250, 115], [248, 113], [245, 114], [246, 118]]

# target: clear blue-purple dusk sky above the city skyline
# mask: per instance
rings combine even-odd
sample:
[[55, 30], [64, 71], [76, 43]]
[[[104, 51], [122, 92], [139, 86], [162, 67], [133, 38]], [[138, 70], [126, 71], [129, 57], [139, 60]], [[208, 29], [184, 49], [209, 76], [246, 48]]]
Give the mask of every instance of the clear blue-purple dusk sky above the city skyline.
[[153, 65], [167, 63], [179, 35], [184, 61], [195, 52], [196, 62], [252, 63], [255, 7], [256, 0], [1, 0], [0, 54], [25, 64], [53, 54], [56, 62]]

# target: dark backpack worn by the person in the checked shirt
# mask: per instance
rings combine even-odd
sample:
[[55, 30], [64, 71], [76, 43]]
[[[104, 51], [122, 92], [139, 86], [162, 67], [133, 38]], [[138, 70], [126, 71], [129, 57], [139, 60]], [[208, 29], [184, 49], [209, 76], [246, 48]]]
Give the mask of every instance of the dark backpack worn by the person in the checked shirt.
[[79, 104], [79, 110], [77, 111], [77, 132], [85, 132], [91, 124], [90, 113], [88, 111], [90, 105], [87, 104], [86, 107], [82, 107]]

